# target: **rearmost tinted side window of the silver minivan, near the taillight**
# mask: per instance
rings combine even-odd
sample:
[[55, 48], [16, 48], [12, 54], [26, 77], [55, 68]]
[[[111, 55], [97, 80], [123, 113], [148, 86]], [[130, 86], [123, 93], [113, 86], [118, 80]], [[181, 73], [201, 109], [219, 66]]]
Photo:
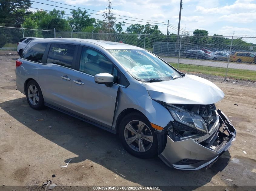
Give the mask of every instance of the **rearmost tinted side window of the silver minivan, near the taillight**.
[[47, 44], [48, 43], [38, 43], [32, 47], [28, 47], [25, 49], [21, 57], [34, 62], [41, 62]]

